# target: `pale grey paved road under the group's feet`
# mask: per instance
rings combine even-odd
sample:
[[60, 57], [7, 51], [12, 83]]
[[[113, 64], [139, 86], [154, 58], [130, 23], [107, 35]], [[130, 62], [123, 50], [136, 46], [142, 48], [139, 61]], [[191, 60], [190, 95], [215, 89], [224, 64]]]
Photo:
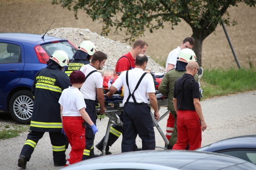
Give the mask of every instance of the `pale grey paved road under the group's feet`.
[[[207, 130], [202, 133], [202, 146], [234, 136], [256, 134], [256, 91], [216, 97], [205, 100], [201, 104], [208, 125]], [[166, 111], [166, 108], [162, 108], [160, 114], [162, 115]], [[10, 121], [9, 119], [10, 117], [7, 116], [6, 121]], [[159, 123], [164, 131], [166, 120], [167, 116]], [[107, 123], [107, 118], [101, 121], [97, 120], [99, 132], [96, 134], [95, 143], [102, 139]], [[157, 130], [155, 130], [155, 133], [156, 145], [164, 146], [164, 141]], [[28, 132], [24, 132], [19, 137], [0, 141], [0, 170], [20, 169], [17, 163], [27, 134]], [[110, 151], [120, 153], [121, 142], [122, 138], [118, 139], [110, 148]], [[141, 147], [140, 138], [137, 138], [136, 142]], [[51, 149], [49, 135], [45, 133], [27, 164], [27, 170], [58, 170], [62, 168], [53, 166]], [[66, 154], [69, 152], [70, 148], [66, 151]], [[95, 153], [99, 154], [100, 152], [96, 149]]]

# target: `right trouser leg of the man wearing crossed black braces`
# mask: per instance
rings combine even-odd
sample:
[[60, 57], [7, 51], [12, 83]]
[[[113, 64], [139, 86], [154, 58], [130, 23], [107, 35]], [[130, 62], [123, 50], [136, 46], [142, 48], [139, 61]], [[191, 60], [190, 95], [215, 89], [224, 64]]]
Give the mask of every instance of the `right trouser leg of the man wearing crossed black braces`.
[[142, 139], [142, 150], [155, 149], [154, 123], [147, 104], [133, 106], [132, 120], [135, 128]]

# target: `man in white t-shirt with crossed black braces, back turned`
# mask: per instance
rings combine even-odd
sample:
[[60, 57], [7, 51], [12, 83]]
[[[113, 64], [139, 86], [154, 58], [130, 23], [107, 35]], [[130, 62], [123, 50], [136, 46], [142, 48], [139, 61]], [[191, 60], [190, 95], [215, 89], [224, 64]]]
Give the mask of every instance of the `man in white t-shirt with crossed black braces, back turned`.
[[147, 105], [148, 97], [156, 120], [159, 119], [159, 113], [153, 78], [144, 72], [147, 61], [144, 54], [139, 54], [135, 68], [123, 72], [106, 94], [107, 97], [112, 97], [117, 89], [124, 86], [122, 152], [133, 151], [137, 134], [142, 139], [142, 150], [155, 149], [154, 123]]

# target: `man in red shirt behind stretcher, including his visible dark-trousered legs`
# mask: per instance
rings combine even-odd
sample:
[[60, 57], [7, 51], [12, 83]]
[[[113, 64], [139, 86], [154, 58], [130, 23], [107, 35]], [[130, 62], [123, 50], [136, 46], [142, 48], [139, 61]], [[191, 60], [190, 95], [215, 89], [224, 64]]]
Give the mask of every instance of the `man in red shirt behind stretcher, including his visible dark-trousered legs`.
[[[127, 53], [119, 58], [119, 60], [116, 63], [116, 66], [115, 66], [115, 71], [121, 73], [123, 71], [131, 70], [131, 69], [135, 68], [136, 56], [138, 56], [139, 54], [145, 54], [147, 47], [148, 47], [148, 44], [143, 39], [137, 39], [133, 43], [132, 50], [129, 53]], [[119, 115], [119, 117], [120, 117], [121, 121], [123, 122], [123, 112], [121, 115]], [[123, 126], [119, 126], [116, 124], [113, 124], [111, 126], [108, 143], [107, 143], [107, 147], [105, 150], [107, 155], [112, 154], [109, 151], [109, 147], [112, 146], [112, 144], [120, 137], [122, 132], [123, 132]], [[102, 149], [103, 149], [104, 139], [105, 139], [105, 136], [103, 137], [102, 141], [100, 141], [98, 144], [96, 144], [96, 148], [100, 151], [102, 151]], [[133, 151], [141, 151], [141, 148], [138, 148], [136, 143], [134, 143]]]

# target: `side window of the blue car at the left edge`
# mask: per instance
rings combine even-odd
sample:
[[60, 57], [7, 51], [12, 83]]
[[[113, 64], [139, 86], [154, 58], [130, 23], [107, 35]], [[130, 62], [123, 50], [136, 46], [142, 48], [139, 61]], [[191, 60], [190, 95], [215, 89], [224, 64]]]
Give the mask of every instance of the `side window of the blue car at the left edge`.
[[0, 64], [4, 63], [21, 63], [20, 46], [0, 42]]

